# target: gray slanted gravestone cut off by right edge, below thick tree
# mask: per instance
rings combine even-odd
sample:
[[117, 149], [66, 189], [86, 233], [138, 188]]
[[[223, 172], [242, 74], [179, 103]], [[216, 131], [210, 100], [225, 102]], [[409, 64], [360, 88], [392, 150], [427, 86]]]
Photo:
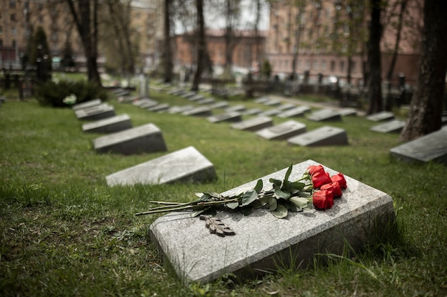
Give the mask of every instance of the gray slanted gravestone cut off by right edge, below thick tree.
[[416, 140], [393, 147], [391, 155], [407, 162], [438, 162], [447, 165], [447, 126]]

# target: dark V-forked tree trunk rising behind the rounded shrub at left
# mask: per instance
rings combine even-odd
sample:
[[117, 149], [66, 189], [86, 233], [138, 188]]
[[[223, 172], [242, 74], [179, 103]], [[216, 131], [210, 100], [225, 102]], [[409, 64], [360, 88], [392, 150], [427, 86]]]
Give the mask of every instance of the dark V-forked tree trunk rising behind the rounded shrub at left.
[[[66, 0], [81, 37], [89, 82], [101, 85], [98, 72], [98, 0]], [[77, 9], [74, 4], [77, 3]]]

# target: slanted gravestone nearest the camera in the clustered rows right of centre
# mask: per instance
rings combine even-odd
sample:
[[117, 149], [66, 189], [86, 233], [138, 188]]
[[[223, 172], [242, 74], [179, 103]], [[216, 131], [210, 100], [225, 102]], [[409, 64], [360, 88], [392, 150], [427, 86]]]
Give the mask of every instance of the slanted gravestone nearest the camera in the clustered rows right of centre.
[[287, 140], [292, 145], [303, 147], [321, 147], [324, 145], [348, 145], [348, 135], [344, 129], [323, 126], [318, 129], [291, 137]]

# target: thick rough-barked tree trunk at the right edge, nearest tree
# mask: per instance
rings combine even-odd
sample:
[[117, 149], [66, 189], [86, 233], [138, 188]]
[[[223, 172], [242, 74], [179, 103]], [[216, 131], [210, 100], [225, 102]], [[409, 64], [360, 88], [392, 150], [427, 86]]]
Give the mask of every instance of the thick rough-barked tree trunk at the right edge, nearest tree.
[[446, 12], [447, 1], [424, 1], [421, 62], [401, 140], [413, 140], [441, 128], [447, 71]]

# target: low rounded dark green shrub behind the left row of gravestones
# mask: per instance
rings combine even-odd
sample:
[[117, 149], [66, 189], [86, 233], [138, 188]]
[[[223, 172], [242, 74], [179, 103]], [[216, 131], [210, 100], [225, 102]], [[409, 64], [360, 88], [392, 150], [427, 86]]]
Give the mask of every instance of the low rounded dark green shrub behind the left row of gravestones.
[[55, 108], [70, 106], [70, 104], [64, 103], [64, 98], [71, 94], [76, 95], [76, 104], [96, 98], [103, 101], [108, 99], [106, 90], [85, 80], [60, 80], [57, 83], [49, 80], [37, 85], [35, 90], [36, 99], [40, 105], [53, 106]]

